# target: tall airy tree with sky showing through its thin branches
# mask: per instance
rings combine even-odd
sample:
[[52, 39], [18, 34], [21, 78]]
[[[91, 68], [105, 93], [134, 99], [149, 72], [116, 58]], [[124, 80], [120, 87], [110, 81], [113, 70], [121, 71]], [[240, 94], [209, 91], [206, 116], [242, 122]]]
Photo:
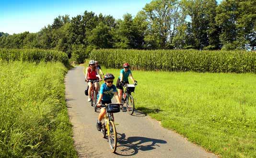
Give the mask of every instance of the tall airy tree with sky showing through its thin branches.
[[[178, 22], [177, 0], [152, 0], [143, 8], [148, 22], [145, 41], [158, 48], [167, 48], [173, 42]], [[160, 45], [157, 45], [157, 44]]]

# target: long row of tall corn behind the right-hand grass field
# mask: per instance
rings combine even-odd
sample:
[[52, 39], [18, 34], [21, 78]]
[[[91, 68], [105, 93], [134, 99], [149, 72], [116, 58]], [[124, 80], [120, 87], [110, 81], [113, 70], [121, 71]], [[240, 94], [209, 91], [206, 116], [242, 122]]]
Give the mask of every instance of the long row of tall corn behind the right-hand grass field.
[[256, 72], [255, 51], [98, 49], [90, 59], [106, 68], [128, 62], [132, 69], [146, 71]]

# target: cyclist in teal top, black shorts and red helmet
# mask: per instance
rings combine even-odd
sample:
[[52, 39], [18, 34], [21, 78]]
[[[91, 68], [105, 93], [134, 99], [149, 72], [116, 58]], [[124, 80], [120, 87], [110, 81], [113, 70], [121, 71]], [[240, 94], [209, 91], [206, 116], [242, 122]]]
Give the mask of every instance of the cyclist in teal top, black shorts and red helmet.
[[129, 83], [128, 77], [133, 81], [133, 83], [137, 82], [133, 79], [133, 76], [131, 74], [131, 70], [129, 69], [130, 65], [128, 63], [123, 64], [123, 69], [120, 70], [120, 76], [116, 81], [116, 88], [118, 89], [118, 95], [120, 98], [120, 101], [122, 100], [122, 93], [123, 93], [123, 86], [121, 83]]

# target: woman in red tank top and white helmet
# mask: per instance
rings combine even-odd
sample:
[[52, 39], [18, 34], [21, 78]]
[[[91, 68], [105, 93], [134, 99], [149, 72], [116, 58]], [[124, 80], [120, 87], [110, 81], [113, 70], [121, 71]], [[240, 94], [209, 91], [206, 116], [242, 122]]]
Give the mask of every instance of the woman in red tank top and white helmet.
[[[92, 92], [92, 87], [93, 87], [93, 80], [97, 80], [99, 78], [99, 80], [101, 81], [101, 76], [97, 75], [99, 74], [98, 69], [95, 67], [95, 62], [94, 60], [90, 60], [89, 61], [89, 66], [86, 68], [86, 72], [85, 72], [85, 81], [88, 82], [88, 102], [91, 102], [91, 92]], [[97, 76], [98, 78], [97, 78]], [[98, 90], [99, 90], [99, 82], [94, 82], [94, 86], [95, 86], [95, 92], [97, 94]]]

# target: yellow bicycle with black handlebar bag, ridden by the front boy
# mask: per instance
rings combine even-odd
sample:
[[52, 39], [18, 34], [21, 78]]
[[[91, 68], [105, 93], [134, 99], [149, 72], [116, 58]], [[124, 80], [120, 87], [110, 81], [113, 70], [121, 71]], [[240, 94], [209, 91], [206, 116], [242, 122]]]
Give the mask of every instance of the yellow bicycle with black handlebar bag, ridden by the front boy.
[[107, 134], [108, 142], [111, 148], [111, 152], [116, 152], [116, 126], [114, 123], [114, 115], [113, 113], [120, 112], [120, 104], [110, 103], [107, 105], [101, 104], [101, 107], [106, 108], [106, 113], [104, 119], [102, 120], [101, 133], [103, 138], [105, 138]]

